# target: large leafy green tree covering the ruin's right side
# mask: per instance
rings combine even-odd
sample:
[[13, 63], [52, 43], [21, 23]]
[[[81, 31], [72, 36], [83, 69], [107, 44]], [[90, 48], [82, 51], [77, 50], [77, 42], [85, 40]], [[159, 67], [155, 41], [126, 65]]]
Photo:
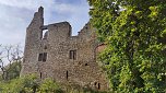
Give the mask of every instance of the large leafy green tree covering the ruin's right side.
[[91, 23], [107, 45], [99, 59], [112, 92], [166, 90], [166, 1], [88, 0]]

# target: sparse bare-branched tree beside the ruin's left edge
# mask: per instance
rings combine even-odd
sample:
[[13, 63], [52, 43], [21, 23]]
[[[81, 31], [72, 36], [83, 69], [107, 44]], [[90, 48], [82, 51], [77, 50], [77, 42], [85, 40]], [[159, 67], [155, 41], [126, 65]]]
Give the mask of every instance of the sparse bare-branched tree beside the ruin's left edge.
[[20, 75], [22, 59], [23, 54], [20, 45], [0, 47], [0, 69], [3, 80], [11, 80]]

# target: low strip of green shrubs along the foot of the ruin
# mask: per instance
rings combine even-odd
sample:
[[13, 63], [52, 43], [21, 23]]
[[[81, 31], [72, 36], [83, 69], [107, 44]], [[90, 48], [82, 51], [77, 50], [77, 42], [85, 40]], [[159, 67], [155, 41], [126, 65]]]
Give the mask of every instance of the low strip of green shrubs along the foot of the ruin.
[[36, 75], [24, 75], [10, 81], [0, 81], [0, 93], [106, 93], [79, 85], [59, 84], [51, 79], [38, 80]]

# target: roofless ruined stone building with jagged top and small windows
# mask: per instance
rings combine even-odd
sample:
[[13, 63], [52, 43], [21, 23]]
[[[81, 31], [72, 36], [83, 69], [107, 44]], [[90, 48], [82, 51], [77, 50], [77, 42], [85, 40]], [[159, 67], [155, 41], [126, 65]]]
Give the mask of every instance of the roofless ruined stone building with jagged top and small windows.
[[43, 13], [40, 7], [26, 30], [21, 75], [36, 73], [40, 79], [107, 89], [106, 77], [96, 62], [98, 44], [90, 23], [78, 36], [71, 36], [68, 22], [44, 25]]

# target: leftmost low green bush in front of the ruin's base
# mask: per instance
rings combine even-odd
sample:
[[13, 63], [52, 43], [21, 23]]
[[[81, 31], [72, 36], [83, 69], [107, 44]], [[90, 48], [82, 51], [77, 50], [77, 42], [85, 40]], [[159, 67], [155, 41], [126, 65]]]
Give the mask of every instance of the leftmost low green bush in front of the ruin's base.
[[35, 75], [26, 75], [23, 78], [13, 79], [9, 82], [1, 82], [1, 93], [32, 93], [37, 88]]

